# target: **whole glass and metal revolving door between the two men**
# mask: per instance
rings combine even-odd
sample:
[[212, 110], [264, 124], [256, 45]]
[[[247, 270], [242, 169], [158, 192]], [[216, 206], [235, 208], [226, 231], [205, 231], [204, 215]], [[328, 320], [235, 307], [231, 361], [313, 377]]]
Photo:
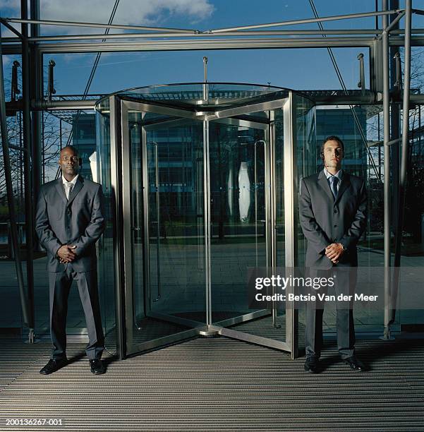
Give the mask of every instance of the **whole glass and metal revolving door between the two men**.
[[222, 83], [99, 101], [98, 135], [110, 137], [109, 153], [98, 145], [99, 180], [114, 223], [103, 265], [114, 266], [122, 358], [199, 335], [297, 355], [298, 312], [250, 308], [247, 278], [298, 265], [296, 152], [315, 145], [311, 112], [291, 90]]

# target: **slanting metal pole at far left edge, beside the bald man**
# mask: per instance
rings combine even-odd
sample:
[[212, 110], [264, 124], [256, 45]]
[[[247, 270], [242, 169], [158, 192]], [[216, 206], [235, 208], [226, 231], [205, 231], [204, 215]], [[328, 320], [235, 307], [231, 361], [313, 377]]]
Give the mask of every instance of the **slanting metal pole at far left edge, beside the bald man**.
[[8, 149], [8, 135], [6, 123], [6, 96], [4, 94], [4, 75], [3, 75], [3, 55], [1, 52], [1, 32], [0, 32], [0, 130], [1, 145], [3, 147], [4, 174], [6, 178], [7, 202], [9, 216], [11, 219], [11, 236], [13, 252], [15, 253], [16, 277], [18, 278], [20, 307], [22, 308], [23, 320], [25, 325], [29, 325], [31, 316], [28, 311], [28, 303], [25, 295], [25, 286], [23, 282], [22, 263], [20, 262], [20, 251], [18, 249], [18, 228], [16, 226], [15, 200], [13, 197], [13, 184], [11, 175], [11, 160]]

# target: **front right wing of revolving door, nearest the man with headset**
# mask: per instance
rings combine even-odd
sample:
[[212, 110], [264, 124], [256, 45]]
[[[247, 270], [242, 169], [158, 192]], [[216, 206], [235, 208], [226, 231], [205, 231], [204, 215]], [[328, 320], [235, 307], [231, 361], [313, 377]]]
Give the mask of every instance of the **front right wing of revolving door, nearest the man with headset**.
[[231, 126], [210, 122], [212, 322], [224, 336], [287, 349], [285, 305], [253, 309], [248, 301], [248, 269], [270, 272], [277, 255], [284, 259], [284, 226], [278, 241], [276, 236], [277, 221], [284, 220], [282, 136], [276, 149], [276, 131], [283, 131], [281, 110], [277, 126], [274, 111], [269, 120], [231, 119]]

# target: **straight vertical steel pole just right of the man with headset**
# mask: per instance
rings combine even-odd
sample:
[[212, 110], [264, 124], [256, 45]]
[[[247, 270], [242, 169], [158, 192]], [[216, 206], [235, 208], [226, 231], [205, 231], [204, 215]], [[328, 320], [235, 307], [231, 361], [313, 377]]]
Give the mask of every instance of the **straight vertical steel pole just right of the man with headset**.
[[[387, 0], [382, 8], [387, 9]], [[387, 15], [383, 16], [382, 26], [387, 28]], [[383, 143], [384, 143], [384, 335], [382, 339], [390, 340], [390, 101], [389, 101], [389, 34], [382, 35], [383, 66]]]

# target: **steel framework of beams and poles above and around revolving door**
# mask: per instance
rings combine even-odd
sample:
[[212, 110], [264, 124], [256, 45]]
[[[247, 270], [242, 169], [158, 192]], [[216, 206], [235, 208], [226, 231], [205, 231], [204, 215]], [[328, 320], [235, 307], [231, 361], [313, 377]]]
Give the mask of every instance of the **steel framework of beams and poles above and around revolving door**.
[[[0, 68], [3, 71], [2, 54], [22, 54], [23, 55], [23, 104], [22, 106], [15, 107], [14, 109], [22, 109], [24, 119], [24, 140], [25, 151], [24, 155], [28, 156], [28, 167], [30, 150], [32, 149], [32, 162], [35, 169], [34, 181], [31, 185], [31, 179], [25, 180], [25, 211], [28, 215], [29, 226], [32, 227], [33, 206], [31, 204], [31, 195], [36, 195], [40, 187], [40, 116], [37, 112], [34, 113], [32, 125], [30, 124], [30, 110], [31, 109], [54, 109], [58, 107], [61, 102], [48, 101], [46, 102], [42, 95], [42, 71], [43, 71], [43, 55], [54, 53], [80, 53], [80, 52], [137, 52], [137, 51], [160, 51], [160, 50], [199, 50], [199, 49], [284, 49], [284, 48], [314, 48], [314, 47], [365, 47], [370, 51], [370, 91], [372, 93], [371, 100], [383, 104], [383, 120], [384, 120], [384, 155], [389, 160], [389, 143], [391, 142], [389, 136], [389, 104], [390, 98], [393, 95], [390, 92], [388, 85], [389, 76], [389, 47], [404, 47], [405, 49], [405, 74], [403, 86], [403, 98], [401, 100], [394, 99], [394, 102], [402, 102], [404, 109], [408, 109], [409, 102], [412, 99], [410, 95], [410, 69], [411, 69], [411, 47], [424, 45], [424, 30], [411, 28], [412, 14], [423, 15], [424, 11], [412, 8], [412, 0], [405, 0], [404, 9], [389, 10], [387, 7], [387, 0], [382, 1], [382, 11], [367, 12], [367, 13], [353, 13], [341, 16], [329, 16], [322, 18], [307, 18], [303, 20], [289, 20], [279, 23], [265, 23], [256, 25], [239, 26], [233, 28], [221, 28], [214, 30], [190, 30], [190, 29], [174, 29], [174, 28], [152, 28], [146, 26], [132, 26], [132, 25], [108, 25], [102, 23], [75, 23], [68, 21], [47, 21], [40, 20], [40, 4], [39, 0], [31, 0], [31, 18], [28, 19], [27, 2], [21, 0], [21, 17], [20, 18], [0, 18], [0, 23], [6, 28], [11, 30], [16, 37], [2, 38], [0, 33]], [[284, 27], [286, 25], [297, 25], [305, 23], [322, 23], [326, 21], [345, 20], [351, 18], [364, 18], [371, 16], [382, 16], [383, 28], [376, 29], [363, 29], [363, 30], [257, 30], [260, 28], [270, 27]], [[394, 20], [404, 18], [405, 29], [393, 29], [393, 24], [388, 23], [388, 17], [394, 16]], [[21, 31], [14, 29], [11, 24], [20, 23]], [[31, 36], [28, 36], [28, 25], [31, 26]], [[67, 25], [81, 28], [116, 28], [121, 30], [132, 31], [132, 33], [121, 33], [116, 35], [77, 35], [76, 37], [69, 37], [68, 35], [56, 36], [40, 36], [40, 25]], [[137, 32], [136, 30], [143, 31], [144, 33]], [[297, 37], [293, 37], [296, 35]], [[338, 35], [338, 37], [300, 37], [310, 35]], [[266, 37], [273, 36], [273, 37]], [[291, 37], [284, 37], [291, 36]], [[80, 42], [70, 43], [68, 40], [79, 41], [95, 41], [105, 40], [105, 42]], [[108, 42], [109, 39], [123, 41]], [[135, 38], [150, 38], [143, 42], [133, 41]], [[163, 40], [163, 38], [166, 38]], [[177, 39], [179, 38], [179, 39]], [[63, 42], [60, 42], [63, 41]], [[57, 43], [47, 43], [57, 42]], [[30, 80], [32, 78], [32, 80]], [[30, 82], [31, 81], [31, 82]], [[4, 96], [4, 83], [1, 83], [0, 91], [0, 104], [5, 107]], [[30, 100], [34, 100], [32, 105]], [[331, 102], [331, 97], [327, 99]], [[339, 103], [337, 98], [334, 98], [335, 103]], [[353, 103], [356, 103], [354, 100]], [[414, 95], [413, 102], [424, 103], [421, 96]], [[75, 109], [75, 107], [87, 107], [86, 101], [73, 101], [64, 102], [61, 104], [61, 109]], [[1, 109], [1, 124], [6, 124], [6, 109]], [[407, 118], [408, 116], [406, 116]], [[32, 138], [30, 137], [30, 127], [32, 126]], [[11, 195], [11, 178], [10, 167], [8, 161], [8, 139], [6, 130], [2, 127], [2, 137], [4, 146], [4, 161], [6, 184], [8, 185], [8, 194]], [[32, 143], [30, 142], [32, 140]], [[405, 173], [406, 173], [406, 150], [408, 146], [408, 121], [404, 120], [404, 133], [402, 136], [402, 159], [401, 159], [401, 176], [400, 176], [400, 194], [399, 194], [399, 218], [401, 221], [401, 212], [403, 211], [402, 203], [404, 202], [404, 186], [405, 186]], [[384, 164], [386, 165], [386, 164]], [[385, 178], [389, 179], [389, 172], [385, 172]], [[389, 183], [388, 181], [385, 183]], [[31, 189], [33, 188], [33, 189]], [[16, 218], [13, 200], [8, 200], [12, 233], [16, 230]], [[389, 190], [384, 187], [384, 267], [387, 270], [387, 277], [385, 278], [385, 291], [389, 293], [389, 267], [390, 263], [390, 215], [389, 215]], [[399, 246], [399, 239], [401, 238], [401, 229], [396, 231], [396, 245]], [[18, 244], [16, 236], [13, 234], [13, 248], [17, 251]], [[28, 237], [29, 240], [30, 236]], [[32, 245], [30, 244], [32, 249]], [[395, 262], [399, 262], [400, 248], [396, 247]], [[21, 302], [26, 305], [23, 306], [25, 316], [29, 316], [28, 327], [30, 334], [34, 327], [34, 317], [30, 317], [30, 307], [33, 307], [33, 299], [31, 293], [23, 298], [25, 289], [23, 287], [23, 278], [20, 277], [22, 270], [20, 264], [16, 261], [16, 271], [18, 275], [18, 284], [21, 293]], [[33, 280], [32, 266], [28, 268], [28, 281]], [[32, 282], [29, 282], [31, 284]], [[30, 287], [29, 287], [30, 288]], [[32, 306], [30, 305], [32, 304]], [[389, 325], [393, 318], [393, 313], [389, 312], [391, 308], [387, 305], [387, 311], [384, 316], [385, 335], [389, 337]], [[26, 312], [25, 312], [26, 311]], [[31, 336], [30, 336], [31, 340]]]

